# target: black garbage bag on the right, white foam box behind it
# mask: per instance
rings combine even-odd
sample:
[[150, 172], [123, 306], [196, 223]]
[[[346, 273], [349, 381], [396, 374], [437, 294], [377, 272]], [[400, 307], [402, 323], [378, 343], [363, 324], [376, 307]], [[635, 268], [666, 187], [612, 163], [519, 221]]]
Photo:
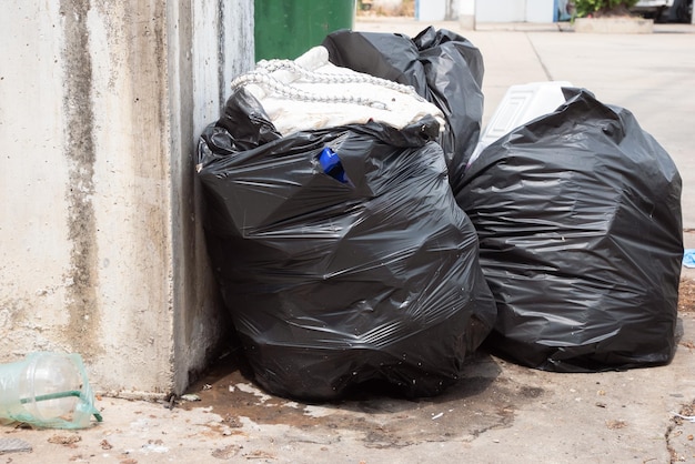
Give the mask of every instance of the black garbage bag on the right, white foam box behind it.
[[683, 253], [681, 178], [625, 109], [587, 91], [485, 149], [456, 200], [497, 302], [485, 346], [593, 372], [668, 363]]

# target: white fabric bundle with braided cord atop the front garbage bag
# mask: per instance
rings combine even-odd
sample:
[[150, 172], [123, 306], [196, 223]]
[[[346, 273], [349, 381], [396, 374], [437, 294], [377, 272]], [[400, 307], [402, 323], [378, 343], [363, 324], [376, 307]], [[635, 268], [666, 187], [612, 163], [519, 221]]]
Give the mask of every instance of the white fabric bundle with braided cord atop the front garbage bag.
[[260, 61], [254, 71], [232, 82], [245, 87], [283, 134], [370, 120], [396, 129], [444, 115], [412, 87], [340, 68], [329, 62], [324, 47], [314, 47], [296, 60]]

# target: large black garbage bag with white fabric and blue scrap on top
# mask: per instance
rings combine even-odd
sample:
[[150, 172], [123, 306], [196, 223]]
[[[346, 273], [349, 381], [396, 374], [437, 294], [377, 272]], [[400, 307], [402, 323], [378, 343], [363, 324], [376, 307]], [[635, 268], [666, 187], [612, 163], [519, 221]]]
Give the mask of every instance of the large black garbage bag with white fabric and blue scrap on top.
[[[384, 381], [435, 395], [490, 333], [475, 230], [427, 142], [437, 130], [425, 118], [281, 137], [242, 89], [202, 134], [209, 253], [271, 393], [330, 400]], [[324, 173], [326, 149], [343, 173]]]

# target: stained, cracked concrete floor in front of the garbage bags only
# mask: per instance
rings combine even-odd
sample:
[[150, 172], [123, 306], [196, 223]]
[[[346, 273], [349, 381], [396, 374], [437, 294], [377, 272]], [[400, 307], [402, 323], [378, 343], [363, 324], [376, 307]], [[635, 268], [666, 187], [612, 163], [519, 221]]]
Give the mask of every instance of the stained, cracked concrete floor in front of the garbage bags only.
[[[684, 285], [682, 296], [692, 296], [695, 281]], [[89, 430], [3, 426], [0, 438], [32, 451], [0, 454], [0, 464], [695, 462], [695, 423], [673, 414], [694, 412], [692, 299], [678, 330], [667, 366], [558, 374], [479, 353], [457, 385], [419, 401], [372, 394], [298, 403], [221, 362], [191, 387], [200, 401], [170, 407], [101, 397], [104, 422]]]

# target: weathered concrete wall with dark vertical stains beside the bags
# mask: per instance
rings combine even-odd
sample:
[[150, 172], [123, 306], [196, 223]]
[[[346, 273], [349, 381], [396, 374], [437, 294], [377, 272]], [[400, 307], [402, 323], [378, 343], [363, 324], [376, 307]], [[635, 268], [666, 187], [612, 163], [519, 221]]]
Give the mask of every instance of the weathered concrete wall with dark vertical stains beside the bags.
[[6, 0], [0, 362], [181, 393], [223, 336], [192, 154], [252, 67], [252, 0]]

